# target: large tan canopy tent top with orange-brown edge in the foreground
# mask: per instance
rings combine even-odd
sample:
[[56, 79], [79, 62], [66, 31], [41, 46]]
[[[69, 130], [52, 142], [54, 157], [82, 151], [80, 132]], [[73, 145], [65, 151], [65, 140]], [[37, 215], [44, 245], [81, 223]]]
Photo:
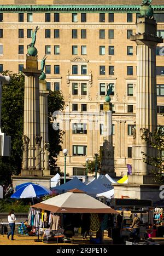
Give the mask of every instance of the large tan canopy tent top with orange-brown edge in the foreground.
[[54, 213], [114, 213], [119, 214], [106, 204], [86, 195], [84, 191], [73, 189], [52, 197], [48, 200], [34, 204], [32, 207], [40, 208]]

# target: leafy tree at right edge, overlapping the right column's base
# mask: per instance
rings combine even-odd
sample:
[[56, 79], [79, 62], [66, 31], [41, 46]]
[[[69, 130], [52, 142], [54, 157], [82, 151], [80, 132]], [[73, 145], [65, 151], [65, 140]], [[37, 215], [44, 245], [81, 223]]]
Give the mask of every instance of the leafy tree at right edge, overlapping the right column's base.
[[[145, 132], [146, 133], [146, 132]], [[164, 151], [164, 133], [162, 131], [162, 127], [159, 126], [154, 133], [149, 134], [148, 136], [144, 136], [144, 140], [152, 147], [152, 149], [157, 150], [157, 157], [148, 156], [147, 153], [142, 152], [143, 161], [147, 163], [149, 166], [155, 167], [155, 170], [152, 170], [154, 181], [156, 183], [164, 183], [164, 165], [163, 165], [163, 157], [162, 152]]]

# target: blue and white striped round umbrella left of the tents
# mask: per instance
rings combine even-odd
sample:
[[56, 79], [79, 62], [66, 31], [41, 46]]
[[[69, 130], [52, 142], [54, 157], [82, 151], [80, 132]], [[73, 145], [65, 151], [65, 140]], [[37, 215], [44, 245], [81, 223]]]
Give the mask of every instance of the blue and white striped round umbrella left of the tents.
[[34, 198], [49, 194], [51, 194], [51, 191], [46, 189], [46, 187], [32, 183], [21, 186], [13, 195], [11, 195], [11, 198]]

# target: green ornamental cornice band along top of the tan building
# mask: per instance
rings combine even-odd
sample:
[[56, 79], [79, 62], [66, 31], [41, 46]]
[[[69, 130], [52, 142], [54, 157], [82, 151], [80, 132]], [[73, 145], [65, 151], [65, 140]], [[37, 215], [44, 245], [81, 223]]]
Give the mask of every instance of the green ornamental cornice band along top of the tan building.
[[[162, 12], [164, 5], [151, 5], [154, 12]], [[140, 5], [0, 5], [1, 13], [45, 13], [45, 12], [87, 12], [87, 13], [137, 13]]]

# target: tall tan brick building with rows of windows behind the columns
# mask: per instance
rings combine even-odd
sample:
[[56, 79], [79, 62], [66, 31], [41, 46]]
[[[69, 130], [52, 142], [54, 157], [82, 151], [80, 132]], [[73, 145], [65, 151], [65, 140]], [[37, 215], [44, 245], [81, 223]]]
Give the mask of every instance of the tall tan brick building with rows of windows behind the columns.
[[[39, 26], [38, 60], [46, 59], [47, 88], [61, 90], [66, 109], [56, 128], [65, 130], [67, 173], [84, 175], [86, 158], [102, 150], [103, 103], [113, 85], [112, 133], [116, 175], [132, 164], [136, 124], [137, 47], [135, 34], [142, 0], [5, 0], [0, 5], [0, 72], [25, 67], [32, 30]], [[164, 0], [153, 0], [157, 36], [164, 38]], [[157, 119], [164, 126], [164, 48], [156, 48]], [[64, 169], [61, 151], [57, 164]]]

